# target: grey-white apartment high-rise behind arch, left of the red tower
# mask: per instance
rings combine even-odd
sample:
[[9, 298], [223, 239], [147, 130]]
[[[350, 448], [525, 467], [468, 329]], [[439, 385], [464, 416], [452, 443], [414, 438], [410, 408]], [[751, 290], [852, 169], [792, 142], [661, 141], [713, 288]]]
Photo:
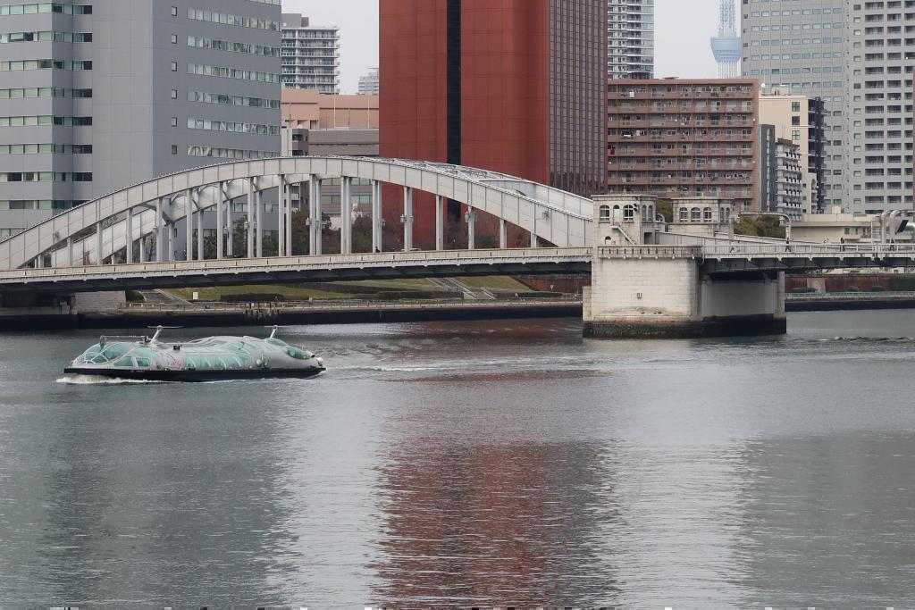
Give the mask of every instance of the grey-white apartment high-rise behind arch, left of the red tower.
[[338, 27], [312, 26], [308, 17], [283, 14], [283, 86], [340, 92]]

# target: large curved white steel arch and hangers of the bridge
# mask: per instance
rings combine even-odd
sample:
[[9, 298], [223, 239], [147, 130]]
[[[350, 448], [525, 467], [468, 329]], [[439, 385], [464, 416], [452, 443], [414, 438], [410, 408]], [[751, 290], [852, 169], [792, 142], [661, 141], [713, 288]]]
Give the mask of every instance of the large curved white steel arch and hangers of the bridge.
[[[264, 236], [275, 228], [279, 257], [292, 257], [294, 194], [307, 193], [308, 253], [323, 244], [321, 181], [339, 180], [339, 253], [352, 252], [354, 180], [371, 185], [371, 248], [383, 251], [382, 185], [404, 189], [403, 245], [413, 251], [414, 194], [435, 198], [436, 251], [445, 250], [447, 201], [467, 207], [468, 249], [475, 247], [477, 213], [499, 221], [500, 248], [508, 228], [531, 235], [532, 246], [586, 247], [593, 202], [518, 177], [463, 166], [365, 157], [291, 157], [200, 167], [137, 184], [87, 202], [0, 241], [0, 269], [81, 267], [113, 263], [199, 261], [207, 258], [204, 229], [214, 227], [210, 259], [264, 256]], [[327, 193], [327, 187], [324, 187]], [[303, 196], [304, 200], [305, 197]], [[275, 203], [273, 203], [275, 202]], [[235, 235], [242, 220], [242, 243]], [[425, 229], [425, 228], [424, 228]], [[430, 227], [431, 229], [431, 227]], [[194, 241], [196, 240], [196, 248]], [[177, 246], [185, 244], [183, 251]], [[135, 246], [139, 243], [138, 254]], [[195, 252], [196, 250], [196, 252]], [[304, 252], [298, 252], [302, 254]], [[336, 253], [336, 252], [335, 252]], [[138, 259], [138, 260], [135, 260]]]

